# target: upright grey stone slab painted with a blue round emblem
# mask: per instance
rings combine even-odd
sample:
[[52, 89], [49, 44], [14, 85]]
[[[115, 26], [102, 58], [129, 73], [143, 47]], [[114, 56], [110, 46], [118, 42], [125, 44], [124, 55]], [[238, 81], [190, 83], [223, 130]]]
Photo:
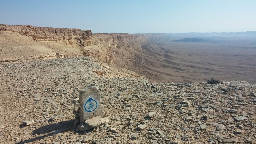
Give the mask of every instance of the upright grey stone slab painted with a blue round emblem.
[[79, 90], [79, 102], [80, 124], [85, 124], [84, 121], [91, 117], [103, 118], [104, 111], [100, 102], [100, 93], [94, 84]]

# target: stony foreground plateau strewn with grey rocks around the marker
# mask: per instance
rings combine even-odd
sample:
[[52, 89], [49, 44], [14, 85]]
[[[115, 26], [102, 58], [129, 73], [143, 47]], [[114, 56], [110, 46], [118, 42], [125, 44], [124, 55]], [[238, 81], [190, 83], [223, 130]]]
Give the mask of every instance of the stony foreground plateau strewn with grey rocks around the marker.
[[[150, 83], [90, 57], [5, 63], [0, 79], [0, 143], [256, 141], [256, 84], [244, 81]], [[110, 121], [78, 132], [71, 100], [89, 84]]]

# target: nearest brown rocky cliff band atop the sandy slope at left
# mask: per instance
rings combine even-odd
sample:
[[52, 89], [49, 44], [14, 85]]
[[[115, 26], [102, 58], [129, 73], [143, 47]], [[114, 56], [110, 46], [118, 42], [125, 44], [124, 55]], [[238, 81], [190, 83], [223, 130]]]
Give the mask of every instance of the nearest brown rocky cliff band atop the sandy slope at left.
[[[69, 28], [51, 28], [51, 27], [34, 27], [30, 25], [0, 25], [0, 31], [12, 31], [21, 35], [31, 36], [35, 40], [43, 41], [68, 41], [76, 39], [79, 42], [92, 43], [92, 31], [69, 29]], [[84, 44], [87, 45], [87, 44]]]

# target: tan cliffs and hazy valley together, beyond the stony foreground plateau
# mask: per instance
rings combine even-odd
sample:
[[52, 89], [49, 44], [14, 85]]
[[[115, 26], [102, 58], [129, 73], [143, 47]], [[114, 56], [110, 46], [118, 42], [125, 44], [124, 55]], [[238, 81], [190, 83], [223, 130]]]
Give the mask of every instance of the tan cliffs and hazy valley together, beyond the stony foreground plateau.
[[[151, 82], [205, 82], [212, 77], [256, 82], [256, 32], [93, 34], [8, 25], [1, 25], [0, 30], [2, 61], [48, 59], [60, 53], [63, 57], [91, 56], [135, 71]], [[197, 39], [177, 41], [187, 37]]]

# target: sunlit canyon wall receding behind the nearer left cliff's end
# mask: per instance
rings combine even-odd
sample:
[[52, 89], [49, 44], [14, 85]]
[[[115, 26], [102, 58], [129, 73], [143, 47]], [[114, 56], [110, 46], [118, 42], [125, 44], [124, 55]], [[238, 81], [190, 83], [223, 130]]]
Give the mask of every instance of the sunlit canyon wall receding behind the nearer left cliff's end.
[[[124, 48], [133, 49], [132, 45], [137, 44], [139, 39], [145, 39], [149, 34], [92, 34], [92, 44], [84, 47], [83, 56], [91, 56], [100, 60], [100, 62], [110, 65], [119, 60], [121, 53], [125, 53]], [[132, 44], [133, 43], [133, 44]], [[93, 47], [94, 49], [89, 49]], [[97, 48], [98, 47], [98, 48]], [[130, 55], [129, 51], [127, 55]]]

